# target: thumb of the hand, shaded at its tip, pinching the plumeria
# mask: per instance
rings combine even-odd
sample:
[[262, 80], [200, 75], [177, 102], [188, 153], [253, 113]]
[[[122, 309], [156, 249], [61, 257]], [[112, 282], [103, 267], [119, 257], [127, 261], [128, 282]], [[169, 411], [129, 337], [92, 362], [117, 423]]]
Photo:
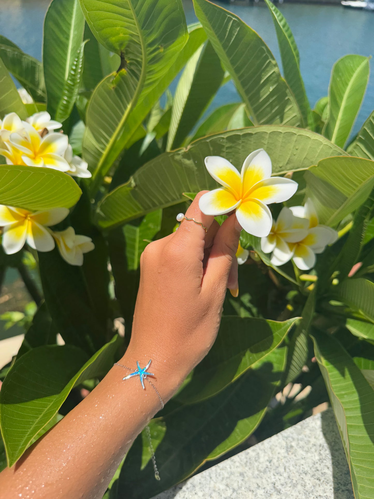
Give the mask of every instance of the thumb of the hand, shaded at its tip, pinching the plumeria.
[[[218, 229], [213, 246], [206, 263], [202, 289], [209, 292], [219, 287], [225, 290], [228, 284], [230, 269], [236, 260], [235, 253], [238, 249], [241, 226], [233, 214], [226, 219]], [[231, 285], [231, 283], [230, 283]]]

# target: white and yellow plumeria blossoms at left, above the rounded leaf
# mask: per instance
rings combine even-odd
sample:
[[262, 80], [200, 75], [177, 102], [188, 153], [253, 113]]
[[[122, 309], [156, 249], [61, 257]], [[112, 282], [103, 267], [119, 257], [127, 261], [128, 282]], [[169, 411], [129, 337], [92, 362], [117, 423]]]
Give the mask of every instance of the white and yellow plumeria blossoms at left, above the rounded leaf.
[[54, 131], [61, 126], [46, 111], [26, 121], [9, 113], [0, 120], [0, 155], [8, 165], [53, 168], [74, 177], [91, 177], [87, 162], [73, 155], [67, 136]]

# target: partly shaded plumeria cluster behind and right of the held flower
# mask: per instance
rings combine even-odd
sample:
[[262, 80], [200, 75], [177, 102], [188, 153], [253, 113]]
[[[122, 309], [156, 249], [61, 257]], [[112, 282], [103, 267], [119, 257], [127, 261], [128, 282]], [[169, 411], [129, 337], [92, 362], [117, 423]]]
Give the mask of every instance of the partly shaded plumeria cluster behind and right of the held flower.
[[292, 259], [301, 270], [309, 270], [316, 263], [316, 254], [337, 239], [334, 229], [319, 224], [315, 207], [308, 199], [305, 206], [282, 208], [269, 235], [261, 238], [261, 249], [272, 253], [273, 265], [283, 265]]

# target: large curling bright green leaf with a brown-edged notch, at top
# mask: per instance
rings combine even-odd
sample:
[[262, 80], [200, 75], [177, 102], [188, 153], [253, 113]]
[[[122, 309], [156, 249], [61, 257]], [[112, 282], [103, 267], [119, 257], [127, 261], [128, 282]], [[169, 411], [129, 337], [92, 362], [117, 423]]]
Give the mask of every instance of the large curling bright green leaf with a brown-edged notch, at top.
[[83, 151], [96, 189], [177, 74], [173, 63], [186, 44], [187, 26], [181, 0], [80, 3], [95, 37], [121, 56], [117, 72], [99, 83], [87, 110]]

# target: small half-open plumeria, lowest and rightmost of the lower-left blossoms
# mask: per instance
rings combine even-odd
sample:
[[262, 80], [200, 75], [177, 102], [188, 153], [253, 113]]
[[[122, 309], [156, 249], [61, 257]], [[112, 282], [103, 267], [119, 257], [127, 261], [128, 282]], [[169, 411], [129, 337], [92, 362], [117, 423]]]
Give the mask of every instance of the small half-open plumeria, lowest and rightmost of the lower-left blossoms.
[[72, 227], [65, 231], [53, 232], [53, 237], [62, 258], [70, 265], [83, 265], [83, 253], [95, 248], [91, 238], [75, 234]]

